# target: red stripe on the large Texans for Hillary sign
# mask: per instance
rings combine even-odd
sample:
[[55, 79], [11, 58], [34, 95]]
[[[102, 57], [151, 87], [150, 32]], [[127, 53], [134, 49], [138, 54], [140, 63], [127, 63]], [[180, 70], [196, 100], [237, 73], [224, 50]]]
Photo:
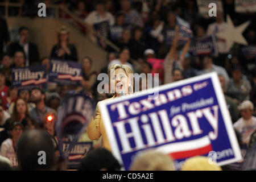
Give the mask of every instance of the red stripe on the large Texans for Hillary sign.
[[197, 148], [195, 150], [174, 152], [169, 155], [172, 157], [172, 159], [184, 159], [184, 158], [190, 158], [190, 157], [196, 156], [196, 155], [208, 154], [210, 151], [212, 151], [211, 144], [209, 144], [208, 146], [202, 147], [202, 148]]

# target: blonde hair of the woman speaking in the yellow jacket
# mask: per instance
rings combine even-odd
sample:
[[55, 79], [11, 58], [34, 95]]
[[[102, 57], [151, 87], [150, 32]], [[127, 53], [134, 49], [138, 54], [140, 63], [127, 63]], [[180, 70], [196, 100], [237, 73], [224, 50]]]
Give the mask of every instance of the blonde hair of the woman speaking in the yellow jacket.
[[111, 71], [115, 71], [115, 69], [121, 68], [123, 69], [123, 71], [125, 71], [125, 74], [127, 77], [129, 77], [129, 81], [131, 81], [131, 89], [129, 90], [129, 93], [133, 93], [133, 71], [131, 70], [131, 68], [125, 64], [112, 64], [110, 65], [109, 69], [108, 69], [108, 76], [109, 76], [109, 81], [110, 81], [110, 74]]

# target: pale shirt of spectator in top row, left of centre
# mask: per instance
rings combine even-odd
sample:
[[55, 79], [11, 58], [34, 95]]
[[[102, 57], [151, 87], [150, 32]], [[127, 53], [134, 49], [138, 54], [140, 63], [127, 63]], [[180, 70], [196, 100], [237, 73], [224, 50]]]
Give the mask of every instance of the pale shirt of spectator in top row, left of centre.
[[92, 11], [92, 13], [90, 13], [85, 18], [85, 22], [89, 23], [89, 24], [101, 23], [101, 22], [104, 22], [106, 20], [109, 21], [110, 26], [113, 26], [115, 24], [114, 16], [109, 12], [106, 12], [106, 16], [102, 17], [102, 16], [100, 16], [100, 14], [97, 13], [97, 11]]

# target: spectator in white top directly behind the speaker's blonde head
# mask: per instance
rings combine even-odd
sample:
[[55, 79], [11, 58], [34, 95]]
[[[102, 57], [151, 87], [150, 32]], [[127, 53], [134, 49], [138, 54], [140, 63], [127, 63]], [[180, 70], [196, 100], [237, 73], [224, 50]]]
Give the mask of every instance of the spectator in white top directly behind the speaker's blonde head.
[[127, 47], [124, 47], [123, 49], [121, 49], [119, 53], [119, 59], [111, 61], [108, 65], [108, 69], [111, 67], [112, 64], [125, 64], [128, 67], [130, 67], [131, 70], [133, 71], [133, 65], [129, 63], [129, 60], [130, 60], [130, 50]]

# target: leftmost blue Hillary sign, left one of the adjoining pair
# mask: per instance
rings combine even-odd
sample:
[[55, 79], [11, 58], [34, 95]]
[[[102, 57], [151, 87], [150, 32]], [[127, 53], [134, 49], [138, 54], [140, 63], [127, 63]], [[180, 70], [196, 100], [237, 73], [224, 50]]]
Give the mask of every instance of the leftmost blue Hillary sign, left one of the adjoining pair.
[[12, 87], [19, 89], [46, 88], [46, 67], [31, 66], [11, 69]]

